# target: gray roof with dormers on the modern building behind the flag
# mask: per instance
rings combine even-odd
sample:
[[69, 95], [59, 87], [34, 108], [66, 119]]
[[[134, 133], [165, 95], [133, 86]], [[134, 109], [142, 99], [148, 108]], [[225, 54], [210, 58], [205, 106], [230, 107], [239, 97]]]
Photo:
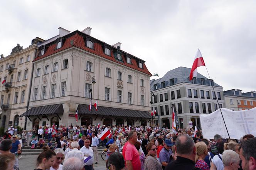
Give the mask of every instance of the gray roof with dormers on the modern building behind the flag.
[[[159, 78], [157, 80], [153, 79], [150, 80], [150, 90], [153, 90], [153, 85], [155, 84], [160, 84], [161, 82], [165, 81], [165, 87], [170, 86], [170, 79], [172, 78], [177, 78], [177, 80], [175, 80], [175, 84], [179, 84], [179, 83], [192, 83], [189, 80], [189, 74], [190, 74], [191, 68], [187, 68], [187, 67], [178, 67], [175, 68], [173, 70], [168, 71], [162, 78]], [[207, 80], [209, 80], [209, 78], [204, 77], [203, 75], [201, 75], [200, 73], [197, 73], [197, 77], [196, 79], [200, 79], [200, 78], [204, 78], [205, 81], [205, 85], [210, 85], [209, 82], [207, 82]], [[199, 80], [197, 80], [197, 84], [200, 84], [200, 82], [198, 82]], [[221, 87], [220, 85], [218, 85], [217, 83], [214, 82], [214, 86], [217, 87]], [[158, 89], [160, 89], [160, 87], [158, 87]]]

